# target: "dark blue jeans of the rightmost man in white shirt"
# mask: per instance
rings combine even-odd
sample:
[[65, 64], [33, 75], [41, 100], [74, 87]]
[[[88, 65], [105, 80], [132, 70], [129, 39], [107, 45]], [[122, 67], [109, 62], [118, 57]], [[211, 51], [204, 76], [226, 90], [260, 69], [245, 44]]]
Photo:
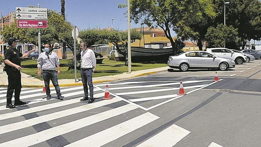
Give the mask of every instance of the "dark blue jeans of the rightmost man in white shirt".
[[83, 84], [83, 90], [84, 90], [84, 96], [88, 97], [88, 87], [87, 83], [90, 88], [90, 98], [93, 98], [93, 73], [92, 69], [81, 69], [81, 77], [82, 77], [82, 84]]

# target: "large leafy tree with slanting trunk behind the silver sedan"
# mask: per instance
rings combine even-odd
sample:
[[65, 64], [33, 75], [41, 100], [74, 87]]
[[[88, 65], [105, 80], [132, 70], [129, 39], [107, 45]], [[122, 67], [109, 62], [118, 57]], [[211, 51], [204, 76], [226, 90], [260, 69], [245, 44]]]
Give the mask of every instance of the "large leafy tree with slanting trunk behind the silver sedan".
[[[198, 6], [202, 8], [195, 9]], [[126, 7], [120, 4], [118, 7]], [[188, 14], [195, 11], [202, 16], [202, 11], [207, 15], [214, 15], [211, 0], [131, 0], [130, 15], [135, 23], [144, 19], [149, 27], [160, 27], [164, 30], [166, 37], [170, 40], [173, 53], [176, 54], [174, 39], [171, 30], [177, 31], [177, 23], [187, 18]], [[183, 39], [183, 38], [182, 38]]]

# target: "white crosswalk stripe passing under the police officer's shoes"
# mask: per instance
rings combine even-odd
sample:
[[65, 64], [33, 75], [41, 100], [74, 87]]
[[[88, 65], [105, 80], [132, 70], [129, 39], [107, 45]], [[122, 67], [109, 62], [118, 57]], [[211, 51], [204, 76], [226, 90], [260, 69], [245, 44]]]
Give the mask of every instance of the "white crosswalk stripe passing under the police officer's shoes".
[[[64, 97], [64, 99], [66, 99], [66, 97], [71, 97], [71, 96], [75, 96], [75, 95], [79, 95], [79, 94], [84, 94], [84, 91], [77, 91], [77, 92], [72, 92], [72, 93], [68, 93], [68, 94], [63, 94], [62, 96]], [[50, 100], [55, 100], [55, 98], [51, 98]], [[27, 105], [30, 104], [35, 104], [35, 103], [39, 103], [39, 102], [46, 102], [46, 101], [50, 101], [47, 99], [43, 99], [43, 98], [39, 98], [39, 99], [32, 99], [32, 100], [28, 100], [25, 102], [28, 102]], [[21, 106], [25, 106], [25, 105], [21, 105]], [[7, 110], [9, 108], [6, 108], [5, 105], [4, 106], [0, 106], [0, 110]]]

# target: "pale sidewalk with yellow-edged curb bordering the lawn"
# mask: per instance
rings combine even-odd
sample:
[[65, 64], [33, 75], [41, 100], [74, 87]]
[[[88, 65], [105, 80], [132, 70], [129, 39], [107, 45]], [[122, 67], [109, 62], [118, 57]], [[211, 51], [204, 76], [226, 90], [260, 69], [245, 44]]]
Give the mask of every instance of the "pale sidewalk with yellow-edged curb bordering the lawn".
[[[153, 69], [145, 69], [145, 70], [138, 70], [133, 71], [131, 73], [124, 72], [119, 75], [110, 75], [110, 76], [103, 76], [103, 77], [95, 77], [93, 78], [93, 83], [101, 83], [107, 82], [112, 80], [121, 80], [126, 78], [132, 78], [141, 75], [148, 75], [153, 74], [159, 71], [167, 70], [169, 67], [160, 67], [160, 68], [153, 68]], [[94, 73], [95, 74], [95, 73]], [[24, 74], [21, 72], [22, 76], [22, 87], [43, 87], [44, 81], [36, 79], [30, 75]], [[80, 86], [82, 85], [82, 81], [78, 81], [77, 83], [74, 82], [74, 79], [61, 79], [58, 80], [59, 86]], [[7, 87], [8, 79], [6, 72], [3, 72], [3, 67], [0, 67], [0, 87]], [[52, 82], [50, 81], [50, 87], [52, 86]]]

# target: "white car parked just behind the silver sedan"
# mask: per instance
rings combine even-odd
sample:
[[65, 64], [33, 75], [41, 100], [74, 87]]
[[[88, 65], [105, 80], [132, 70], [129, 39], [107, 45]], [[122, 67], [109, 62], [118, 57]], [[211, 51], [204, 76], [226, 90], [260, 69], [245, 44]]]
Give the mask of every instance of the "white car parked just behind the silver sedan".
[[232, 59], [236, 64], [243, 64], [243, 62], [247, 61], [247, 57], [243, 53], [235, 53], [227, 48], [207, 48], [206, 52], [213, 53], [221, 58]]

